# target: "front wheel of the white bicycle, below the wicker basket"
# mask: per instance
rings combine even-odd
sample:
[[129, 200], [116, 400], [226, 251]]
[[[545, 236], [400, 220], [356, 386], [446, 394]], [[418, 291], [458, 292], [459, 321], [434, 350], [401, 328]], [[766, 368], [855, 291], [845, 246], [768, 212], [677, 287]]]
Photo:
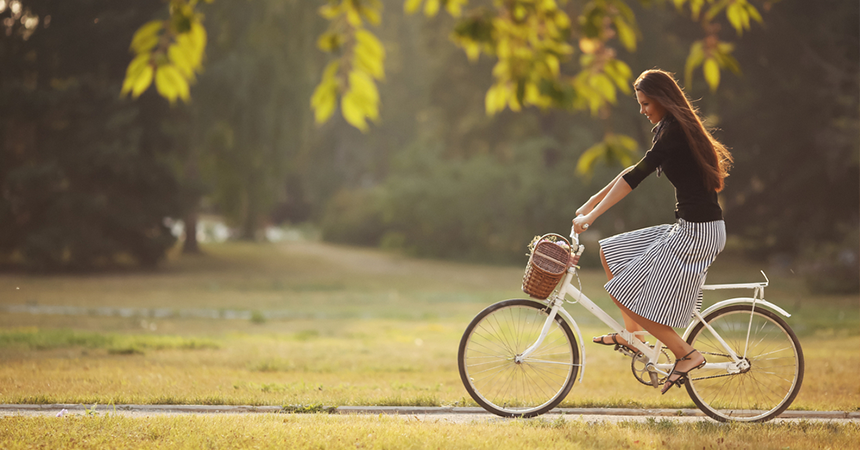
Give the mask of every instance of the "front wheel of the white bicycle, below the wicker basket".
[[460, 379], [487, 411], [534, 417], [570, 392], [579, 372], [579, 347], [560, 315], [540, 348], [525, 361], [514, 360], [536, 342], [548, 313], [549, 307], [534, 300], [505, 300], [485, 308], [466, 327], [457, 353]]

